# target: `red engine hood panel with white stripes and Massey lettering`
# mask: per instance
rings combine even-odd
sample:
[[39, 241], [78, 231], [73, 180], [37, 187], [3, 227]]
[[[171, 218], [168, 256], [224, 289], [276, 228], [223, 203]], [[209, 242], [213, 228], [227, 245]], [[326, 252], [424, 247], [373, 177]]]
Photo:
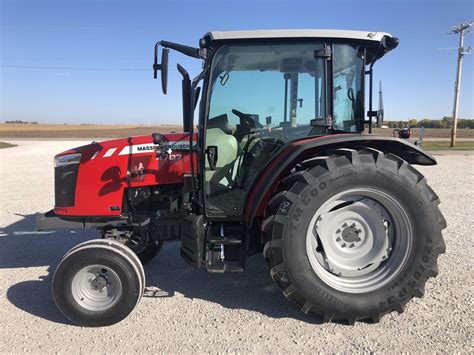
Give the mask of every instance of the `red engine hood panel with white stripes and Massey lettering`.
[[124, 189], [182, 184], [191, 171], [189, 134], [163, 135], [166, 158], [156, 159], [151, 134], [92, 143], [59, 155], [81, 153], [74, 206], [58, 207], [61, 216], [118, 216]]

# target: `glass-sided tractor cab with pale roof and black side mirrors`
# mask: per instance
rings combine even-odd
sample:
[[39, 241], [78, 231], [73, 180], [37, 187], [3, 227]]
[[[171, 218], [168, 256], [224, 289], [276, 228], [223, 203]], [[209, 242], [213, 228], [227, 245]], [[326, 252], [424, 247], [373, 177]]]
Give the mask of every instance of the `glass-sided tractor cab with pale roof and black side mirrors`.
[[203, 79], [199, 148], [207, 158], [199, 174], [205, 213], [241, 219], [255, 179], [286, 144], [361, 133], [366, 124], [370, 131], [377, 112], [369, 94], [367, 119], [365, 77], [372, 82], [374, 62], [398, 39], [380, 32], [262, 30], [210, 32], [199, 49], [159, 42], [156, 50], [159, 45], [164, 60], [154, 67], [165, 71], [164, 90], [168, 48], [204, 61], [203, 72], [189, 84], [179, 66], [184, 127], [192, 129]]

